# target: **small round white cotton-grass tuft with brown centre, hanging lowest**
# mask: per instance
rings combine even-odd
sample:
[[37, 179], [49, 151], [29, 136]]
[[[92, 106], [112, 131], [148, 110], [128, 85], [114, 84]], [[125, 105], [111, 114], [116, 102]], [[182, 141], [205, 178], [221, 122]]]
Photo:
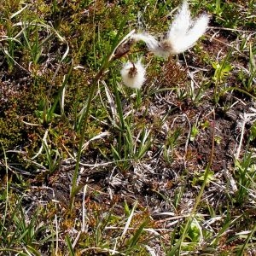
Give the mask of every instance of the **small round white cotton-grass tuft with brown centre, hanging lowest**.
[[134, 89], [141, 89], [146, 80], [146, 70], [141, 61], [131, 63], [128, 61], [121, 69], [124, 84]]

